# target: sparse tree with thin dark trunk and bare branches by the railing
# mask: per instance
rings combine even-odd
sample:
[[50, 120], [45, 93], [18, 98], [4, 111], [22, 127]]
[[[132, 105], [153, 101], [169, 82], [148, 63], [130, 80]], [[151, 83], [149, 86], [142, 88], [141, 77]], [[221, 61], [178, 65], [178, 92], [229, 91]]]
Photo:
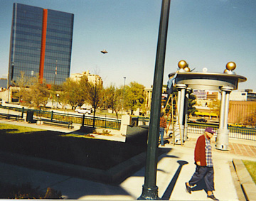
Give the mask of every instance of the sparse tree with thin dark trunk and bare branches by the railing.
[[95, 127], [95, 112], [102, 104], [103, 98], [103, 86], [101, 80], [95, 80], [95, 82], [89, 82], [86, 76], [83, 76], [80, 80], [80, 87], [82, 90], [81, 96], [85, 98], [85, 102], [92, 105], [93, 109], [93, 124]]

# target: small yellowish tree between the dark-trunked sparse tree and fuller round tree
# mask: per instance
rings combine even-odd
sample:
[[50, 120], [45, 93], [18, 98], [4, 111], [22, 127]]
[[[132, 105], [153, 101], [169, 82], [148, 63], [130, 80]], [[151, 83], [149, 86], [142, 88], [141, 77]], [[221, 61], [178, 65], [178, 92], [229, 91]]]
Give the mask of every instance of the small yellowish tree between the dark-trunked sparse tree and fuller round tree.
[[114, 87], [114, 85], [110, 85], [110, 87], [107, 87], [104, 92], [105, 104], [107, 104], [107, 107], [115, 112], [117, 119], [118, 112], [122, 110], [123, 92], [123, 89], [118, 89], [117, 87]]

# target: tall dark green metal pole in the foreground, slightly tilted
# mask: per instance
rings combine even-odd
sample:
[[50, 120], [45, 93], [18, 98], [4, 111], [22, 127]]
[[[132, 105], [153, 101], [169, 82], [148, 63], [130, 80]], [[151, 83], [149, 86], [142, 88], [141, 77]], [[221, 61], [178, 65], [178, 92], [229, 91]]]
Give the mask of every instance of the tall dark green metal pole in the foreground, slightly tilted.
[[156, 50], [156, 65], [154, 71], [154, 85], [152, 92], [150, 124], [148, 145], [146, 151], [146, 170], [142, 195], [138, 200], [161, 200], [158, 196], [158, 187], [156, 186], [156, 166], [158, 159], [159, 142], [159, 121], [161, 109], [161, 92], [164, 75], [164, 60], [166, 53], [166, 39], [169, 22], [169, 10], [171, 0], [162, 0], [161, 18], [159, 25], [159, 38]]

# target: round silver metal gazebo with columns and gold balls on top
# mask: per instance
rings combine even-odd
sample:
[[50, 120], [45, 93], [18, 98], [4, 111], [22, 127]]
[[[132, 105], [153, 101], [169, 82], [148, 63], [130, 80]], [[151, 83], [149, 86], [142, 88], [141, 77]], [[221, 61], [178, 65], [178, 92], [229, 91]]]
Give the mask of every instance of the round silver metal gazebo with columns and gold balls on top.
[[[229, 62], [223, 73], [207, 72], [204, 68], [203, 72], [191, 72], [186, 61], [178, 62], [178, 74], [176, 75], [176, 85], [178, 89], [177, 97], [177, 114], [178, 121], [174, 125], [174, 143], [182, 143], [187, 140], [187, 107], [188, 93], [193, 89], [206, 89], [220, 91], [220, 119], [217, 131], [217, 139], [215, 147], [220, 150], [228, 150], [228, 105], [229, 96], [232, 90], [238, 89], [238, 82], [245, 82], [246, 77], [236, 75], [235, 63]], [[175, 72], [170, 73], [169, 77]]]

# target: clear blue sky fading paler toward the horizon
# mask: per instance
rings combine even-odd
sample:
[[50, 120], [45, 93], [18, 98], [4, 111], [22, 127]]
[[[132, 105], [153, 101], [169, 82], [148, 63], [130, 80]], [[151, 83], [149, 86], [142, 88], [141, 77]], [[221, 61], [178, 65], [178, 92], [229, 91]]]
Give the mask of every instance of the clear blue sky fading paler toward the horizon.
[[[71, 73], [97, 72], [105, 87], [154, 80], [161, 0], [0, 0], [0, 77], [7, 75], [13, 3], [75, 14]], [[164, 84], [179, 60], [201, 72], [237, 64], [256, 91], [256, 1], [171, 0]], [[109, 53], [103, 55], [101, 50]]]

